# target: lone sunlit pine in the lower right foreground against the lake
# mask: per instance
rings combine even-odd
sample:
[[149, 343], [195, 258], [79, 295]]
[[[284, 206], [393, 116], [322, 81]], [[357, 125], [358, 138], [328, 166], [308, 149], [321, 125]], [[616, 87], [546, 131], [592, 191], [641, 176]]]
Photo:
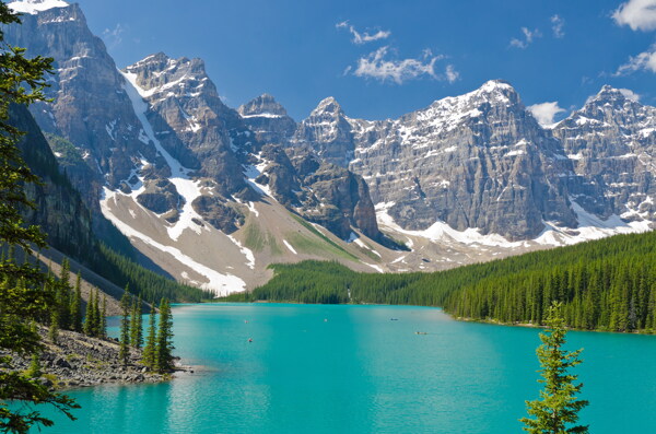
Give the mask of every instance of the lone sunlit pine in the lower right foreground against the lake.
[[578, 421], [578, 412], [588, 401], [576, 398], [583, 384], [575, 385], [578, 376], [567, 373], [582, 363], [578, 357], [582, 350], [567, 352], [562, 349], [566, 329], [560, 302], [549, 307], [547, 326], [547, 332], [540, 333], [542, 344], [537, 350], [542, 376], [538, 382], [544, 389], [540, 390], [540, 399], [526, 401], [528, 414], [535, 419], [520, 419], [526, 425], [524, 431], [531, 434], [588, 433], [588, 425], [567, 427]]

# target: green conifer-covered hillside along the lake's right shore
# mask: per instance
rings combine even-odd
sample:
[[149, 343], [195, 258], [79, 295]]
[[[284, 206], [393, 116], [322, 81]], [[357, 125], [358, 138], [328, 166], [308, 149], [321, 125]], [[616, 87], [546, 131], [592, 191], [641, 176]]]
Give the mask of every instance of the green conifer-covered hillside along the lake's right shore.
[[229, 301], [442, 306], [462, 318], [541, 325], [552, 301], [570, 327], [656, 328], [656, 233], [618, 235], [435, 273], [358, 273], [336, 262], [273, 266], [276, 275]]

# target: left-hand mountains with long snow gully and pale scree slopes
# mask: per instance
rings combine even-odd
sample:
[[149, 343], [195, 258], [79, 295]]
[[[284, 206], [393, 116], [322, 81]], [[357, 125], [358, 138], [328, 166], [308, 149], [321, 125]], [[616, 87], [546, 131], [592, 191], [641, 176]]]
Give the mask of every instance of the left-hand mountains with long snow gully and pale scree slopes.
[[55, 59], [54, 102], [31, 109], [86, 201], [161, 269], [226, 293], [267, 280], [272, 261], [382, 261], [342, 241], [382, 238], [361, 177], [262, 150], [200, 59], [156, 54], [119, 71], [77, 4], [46, 3], [5, 34]]

